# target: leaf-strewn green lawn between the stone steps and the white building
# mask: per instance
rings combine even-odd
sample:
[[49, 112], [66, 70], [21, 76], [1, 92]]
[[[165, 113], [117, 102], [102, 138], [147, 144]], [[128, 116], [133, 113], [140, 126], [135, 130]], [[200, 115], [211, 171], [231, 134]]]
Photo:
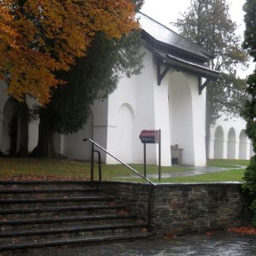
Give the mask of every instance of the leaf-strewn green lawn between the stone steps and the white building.
[[[219, 168], [234, 168], [247, 166], [249, 160], [209, 160], [207, 166]], [[131, 165], [137, 172], [143, 174], [143, 165]], [[194, 170], [192, 166], [162, 167], [162, 173], [189, 172]], [[97, 165], [95, 166], [97, 177]], [[242, 181], [244, 169], [236, 169], [222, 172], [209, 172], [202, 175], [188, 177], [162, 178], [161, 183], [205, 183]], [[147, 174], [157, 174], [158, 166], [147, 166]], [[103, 180], [127, 180], [142, 182], [142, 178], [131, 178], [133, 173], [122, 165], [102, 165]], [[119, 178], [120, 177], [120, 178]], [[0, 180], [13, 179], [90, 179], [90, 163], [75, 160], [54, 159], [22, 159], [0, 158]], [[158, 179], [153, 179], [158, 182]]]

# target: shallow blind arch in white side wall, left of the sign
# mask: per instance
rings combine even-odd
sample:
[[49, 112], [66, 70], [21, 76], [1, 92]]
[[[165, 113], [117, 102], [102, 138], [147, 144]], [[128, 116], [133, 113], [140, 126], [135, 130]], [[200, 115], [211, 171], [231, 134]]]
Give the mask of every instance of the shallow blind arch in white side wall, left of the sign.
[[130, 104], [124, 103], [118, 110], [117, 156], [126, 163], [133, 160], [133, 125], [135, 113]]

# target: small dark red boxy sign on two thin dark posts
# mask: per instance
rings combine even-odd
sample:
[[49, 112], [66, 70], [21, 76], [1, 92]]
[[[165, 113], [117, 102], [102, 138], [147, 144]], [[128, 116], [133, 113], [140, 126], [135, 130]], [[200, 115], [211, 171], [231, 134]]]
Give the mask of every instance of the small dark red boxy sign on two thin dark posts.
[[146, 169], [146, 144], [159, 145], [159, 167], [158, 167], [158, 177], [161, 178], [161, 131], [160, 130], [143, 130], [139, 136], [141, 142], [144, 146], [144, 177], [147, 176]]

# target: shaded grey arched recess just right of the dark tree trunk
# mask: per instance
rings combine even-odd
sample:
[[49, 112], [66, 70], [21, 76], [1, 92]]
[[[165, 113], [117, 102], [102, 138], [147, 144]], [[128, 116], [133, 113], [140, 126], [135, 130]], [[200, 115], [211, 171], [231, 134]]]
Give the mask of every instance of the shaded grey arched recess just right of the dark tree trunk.
[[93, 139], [93, 113], [91, 109], [83, 129], [73, 134], [64, 135], [63, 154], [68, 155], [71, 159], [90, 160], [91, 144], [83, 141], [86, 137]]

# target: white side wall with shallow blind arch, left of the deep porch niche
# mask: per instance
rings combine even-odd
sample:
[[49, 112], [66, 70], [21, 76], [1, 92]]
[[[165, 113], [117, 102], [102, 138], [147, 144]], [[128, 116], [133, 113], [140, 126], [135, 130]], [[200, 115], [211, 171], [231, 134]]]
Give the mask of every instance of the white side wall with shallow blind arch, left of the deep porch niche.
[[[108, 150], [128, 163], [143, 162], [139, 134], [142, 130], [155, 129], [153, 65], [153, 56], [147, 51], [143, 73], [121, 79], [118, 88], [108, 97]], [[147, 162], [155, 164], [155, 145], [150, 146]], [[111, 157], [107, 162], [116, 163]]]

